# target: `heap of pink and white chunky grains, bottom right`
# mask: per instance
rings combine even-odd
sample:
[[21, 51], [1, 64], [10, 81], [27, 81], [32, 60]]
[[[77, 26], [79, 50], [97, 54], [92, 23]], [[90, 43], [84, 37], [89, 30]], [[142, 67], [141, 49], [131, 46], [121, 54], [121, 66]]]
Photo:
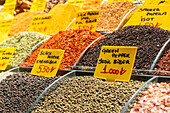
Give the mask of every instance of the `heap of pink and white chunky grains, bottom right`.
[[139, 98], [131, 113], [169, 113], [170, 83], [156, 83]]

